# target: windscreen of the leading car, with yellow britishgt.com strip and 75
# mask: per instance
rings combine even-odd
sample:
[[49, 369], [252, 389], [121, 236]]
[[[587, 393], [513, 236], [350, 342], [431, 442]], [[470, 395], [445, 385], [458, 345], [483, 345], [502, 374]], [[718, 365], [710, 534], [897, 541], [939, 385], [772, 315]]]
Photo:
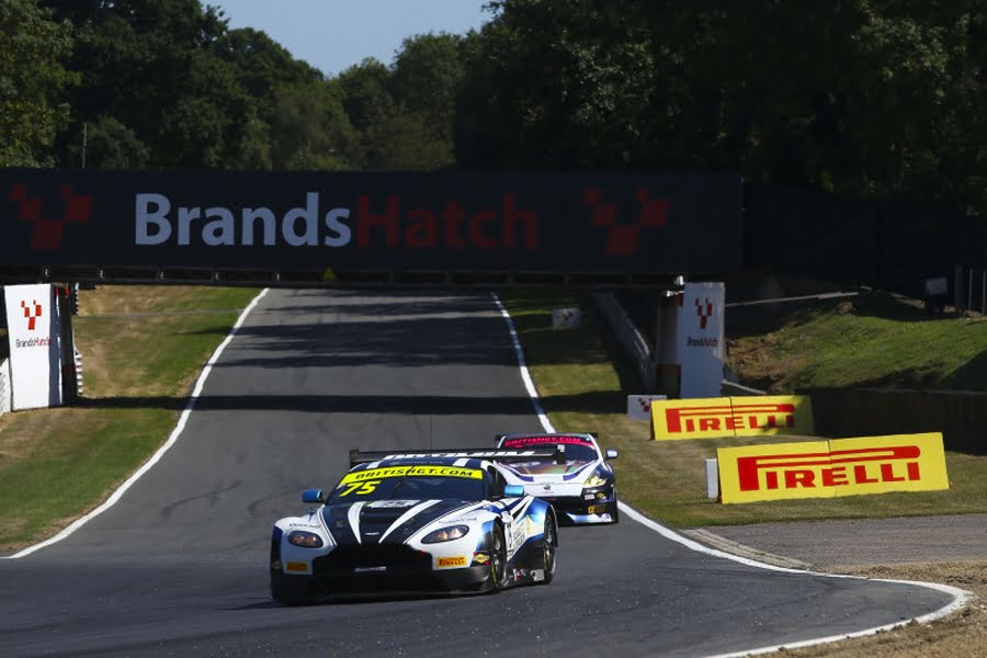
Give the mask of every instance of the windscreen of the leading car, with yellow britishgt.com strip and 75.
[[398, 466], [348, 473], [329, 503], [361, 500], [484, 499], [483, 472], [454, 466]]

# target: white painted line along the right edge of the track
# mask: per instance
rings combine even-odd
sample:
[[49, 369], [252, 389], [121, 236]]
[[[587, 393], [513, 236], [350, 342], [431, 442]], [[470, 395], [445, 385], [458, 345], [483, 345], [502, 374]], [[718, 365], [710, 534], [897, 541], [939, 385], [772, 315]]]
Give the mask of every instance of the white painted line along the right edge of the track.
[[[518, 365], [521, 370], [521, 378], [524, 382], [524, 388], [527, 390], [527, 395], [531, 397], [532, 405], [534, 406], [535, 413], [538, 416], [538, 420], [542, 422], [542, 427], [546, 432], [555, 432], [554, 427], [552, 426], [552, 421], [548, 419], [548, 415], [545, 413], [545, 409], [542, 407], [542, 401], [538, 398], [538, 393], [535, 389], [534, 382], [531, 377], [531, 373], [527, 370], [527, 362], [524, 359], [524, 350], [521, 347], [521, 339], [518, 336], [518, 331], [514, 328], [514, 321], [511, 319], [510, 313], [508, 313], [507, 308], [500, 302], [500, 297], [497, 293], [490, 293], [490, 296], [494, 298], [494, 303], [497, 305], [498, 310], [500, 311], [501, 317], [504, 319], [508, 326], [508, 332], [511, 336], [511, 343], [514, 347], [514, 354], [518, 356]], [[850, 639], [853, 637], [865, 637], [869, 635], [876, 635], [877, 633], [882, 633], [884, 631], [890, 631], [894, 628], [898, 628], [901, 626], [906, 626], [911, 622], [916, 622], [919, 624], [928, 624], [930, 622], [934, 622], [941, 620], [945, 616], [953, 614], [960, 610], [963, 610], [969, 601], [973, 599], [973, 592], [968, 592], [966, 590], [962, 590], [955, 587], [951, 587], [949, 585], [941, 585], [938, 582], [921, 582], [916, 580], [889, 580], [885, 578], [866, 578], [863, 576], [850, 576], [846, 574], [826, 574], [822, 571], [808, 571], [805, 569], [792, 569], [789, 567], [780, 567], [778, 565], [771, 565], [768, 563], [758, 561], [755, 559], [750, 559], [747, 557], [741, 557], [739, 555], [734, 555], [731, 553], [725, 553], [723, 551], [717, 551], [715, 548], [710, 548], [700, 544], [699, 542], [694, 542], [683, 535], [680, 535], [676, 531], [661, 525], [657, 521], [645, 517], [643, 513], [638, 512], [627, 503], [623, 501], [617, 501], [617, 507], [620, 507], [621, 511], [650, 530], [654, 530], [661, 536], [672, 542], [677, 542], [682, 546], [695, 551], [697, 553], [704, 553], [706, 555], [711, 555], [713, 557], [719, 557], [723, 559], [729, 559], [736, 563], [740, 563], [742, 565], [747, 565], [750, 567], [757, 567], [759, 569], [765, 569], [770, 571], [784, 571], [786, 574], [804, 574], [806, 576], [822, 576], [826, 578], [844, 578], [850, 580], [874, 580], [877, 582], [898, 582], [901, 585], [914, 585], [919, 587], [926, 587], [929, 589], [934, 589], [946, 594], [951, 594], [953, 597], [953, 601], [939, 610], [934, 610], [930, 613], [912, 617], [909, 620], [901, 620], [895, 622], [894, 624], [887, 624], [884, 626], [876, 626], [874, 628], [865, 628], [863, 631], [855, 631], [853, 633], [848, 633], [844, 635], [829, 635], [826, 637], [816, 637], [812, 639], [804, 639], [794, 643], [773, 645], [768, 647], [760, 647], [756, 649], [747, 649], [742, 651], [737, 651], [735, 654], [717, 654], [715, 656], [708, 656], [707, 658], [742, 658], [744, 656], [756, 656], [760, 654], [772, 654], [774, 651], [782, 651], [786, 649], [796, 649], [804, 647], [812, 647], [816, 645], [829, 644], [833, 642], [840, 642], [843, 639]]]

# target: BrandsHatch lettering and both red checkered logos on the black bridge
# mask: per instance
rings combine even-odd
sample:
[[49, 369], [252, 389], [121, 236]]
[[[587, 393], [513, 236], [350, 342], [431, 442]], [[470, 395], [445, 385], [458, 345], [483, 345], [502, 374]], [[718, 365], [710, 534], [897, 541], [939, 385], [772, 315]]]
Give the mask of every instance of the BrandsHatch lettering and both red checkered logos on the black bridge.
[[[574, 189], [574, 204], [557, 204], [535, 195], [495, 193], [486, 202], [469, 203], [441, 196], [409, 203], [400, 194], [358, 195], [351, 203], [333, 204], [318, 191], [304, 192], [292, 204], [232, 206], [216, 200], [179, 203], [168, 193], [141, 192], [129, 196], [129, 208], [102, 206], [104, 215], [133, 212], [131, 239], [138, 247], [328, 247], [535, 251], [542, 247], [545, 219], [566, 218], [576, 206], [588, 208], [583, 222], [603, 229], [595, 249], [606, 257], [635, 257], [643, 231], [668, 224], [671, 201], [653, 198], [647, 189], [633, 190], [634, 202], [601, 186]], [[117, 192], [109, 196], [115, 197]], [[32, 251], [58, 251], [66, 227], [93, 218], [94, 195], [78, 193], [71, 184], [57, 188], [57, 196], [38, 195], [25, 183], [14, 183], [8, 197], [16, 220], [33, 226]], [[327, 201], [329, 203], [327, 203]], [[546, 216], [542, 216], [542, 215]], [[101, 220], [109, 224], [109, 219]], [[115, 222], [114, 222], [115, 224]], [[101, 230], [105, 232], [105, 227]], [[557, 230], [565, 230], [559, 228]], [[594, 235], [600, 235], [594, 234]]]

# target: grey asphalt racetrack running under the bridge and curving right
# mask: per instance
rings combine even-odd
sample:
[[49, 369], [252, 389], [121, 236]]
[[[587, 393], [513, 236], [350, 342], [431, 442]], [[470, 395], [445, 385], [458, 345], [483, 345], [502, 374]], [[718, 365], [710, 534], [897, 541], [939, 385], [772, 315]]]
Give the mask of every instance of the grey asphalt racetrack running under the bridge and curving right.
[[549, 586], [270, 600], [272, 522], [302, 509], [302, 489], [331, 486], [350, 447], [488, 445], [532, 430], [490, 296], [272, 291], [154, 468], [64, 541], [0, 560], [0, 655], [711, 656], [894, 624], [952, 600], [715, 557], [627, 514], [563, 529]]

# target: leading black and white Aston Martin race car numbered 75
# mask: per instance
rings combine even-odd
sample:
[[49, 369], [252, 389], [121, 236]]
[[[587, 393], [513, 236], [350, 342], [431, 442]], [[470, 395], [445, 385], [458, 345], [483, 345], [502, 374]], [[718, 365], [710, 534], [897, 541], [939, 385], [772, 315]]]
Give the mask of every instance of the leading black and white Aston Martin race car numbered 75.
[[[530, 460], [535, 451], [521, 451]], [[362, 453], [300, 517], [274, 524], [271, 594], [296, 604], [354, 592], [498, 591], [552, 581], [552, 506], [507, 484], [517, 451]], [[477, 456], [478, 455], [478, 456]]]

